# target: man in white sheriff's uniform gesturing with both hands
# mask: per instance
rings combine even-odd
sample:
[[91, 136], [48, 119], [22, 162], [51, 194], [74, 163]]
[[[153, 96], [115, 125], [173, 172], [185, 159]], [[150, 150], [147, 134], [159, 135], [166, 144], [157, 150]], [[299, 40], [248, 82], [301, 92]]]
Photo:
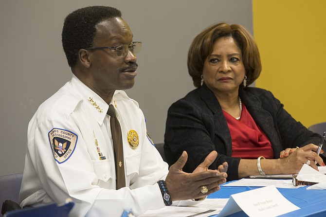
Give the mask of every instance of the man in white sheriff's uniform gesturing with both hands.
[[[137, 74], [141, 42], [132, 39], [121, 12], [112, 7], [81, 8], [65, 19], [62, 44], [72, 80], [29, 123], [21, 206], [71, 198], [72, 217], [118, 217], [124, 209], [139, 215], [172, 201], [204, 198], [226, 181], [227, 163], [208, 170], [215, 151], [193, 173], [182, 171], [186, 152], [168, 170], [146, 133], [142, 110], [123, 91], [133, 87]], [[126, 187], [120, 189], [109, 105], [122, 131], [124, 163], [119, 163]]]

